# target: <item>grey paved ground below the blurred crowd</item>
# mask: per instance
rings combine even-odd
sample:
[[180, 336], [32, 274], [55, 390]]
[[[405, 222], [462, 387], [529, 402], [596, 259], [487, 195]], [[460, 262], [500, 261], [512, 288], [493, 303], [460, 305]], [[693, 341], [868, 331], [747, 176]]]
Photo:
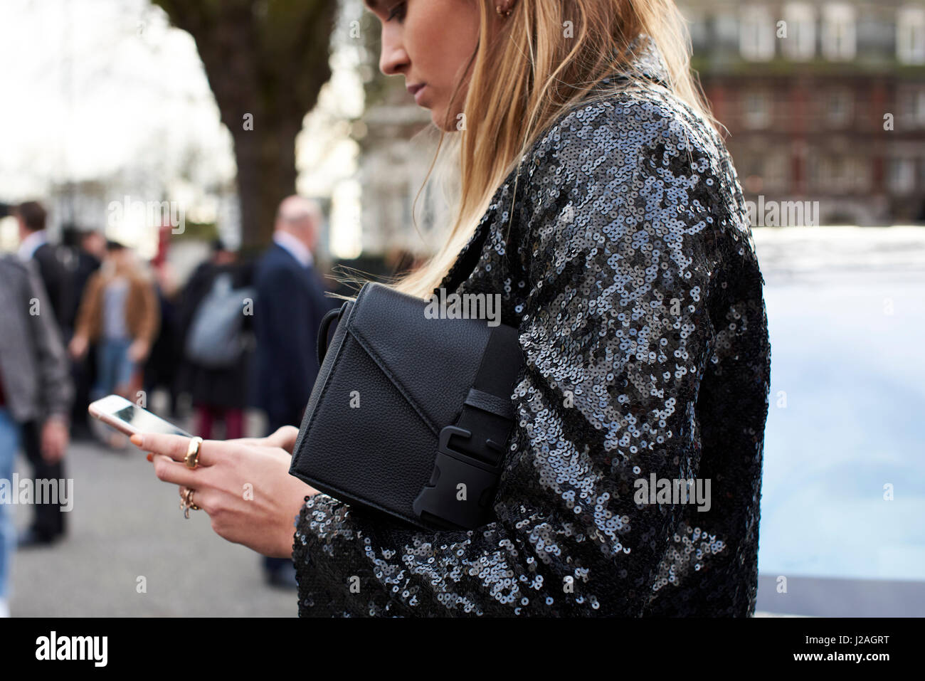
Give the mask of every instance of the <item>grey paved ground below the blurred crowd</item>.
[[[266, 586], [260, 557], [218, 537], [202, 511], [185, 520], [176, 486], [141, 451], [77, 443], [67, 462], [68, 538], [14, 555], [14, 617], [297, 615], [295, 589]], [[28, 524], [31, 507], [13, 508], [17, 526]]]

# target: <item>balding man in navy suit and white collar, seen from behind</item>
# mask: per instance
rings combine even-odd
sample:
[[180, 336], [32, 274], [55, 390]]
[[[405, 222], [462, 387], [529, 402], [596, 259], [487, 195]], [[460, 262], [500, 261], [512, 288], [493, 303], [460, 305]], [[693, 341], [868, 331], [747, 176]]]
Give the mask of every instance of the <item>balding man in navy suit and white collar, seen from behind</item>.
[[[336, 299], [314, 271], [314, 251], [321, 227], [314, 201], [290, 196], [279, 204], [273, 244], [257, 264], [253, 325], [257, 340], [255, 402], [268, 420], [268, 432], [299, 427], [302, 411], [318, 375], [317, 346], [321, 318]], [[271, 583], [295, 586], [291, 561], [266, 558]]]

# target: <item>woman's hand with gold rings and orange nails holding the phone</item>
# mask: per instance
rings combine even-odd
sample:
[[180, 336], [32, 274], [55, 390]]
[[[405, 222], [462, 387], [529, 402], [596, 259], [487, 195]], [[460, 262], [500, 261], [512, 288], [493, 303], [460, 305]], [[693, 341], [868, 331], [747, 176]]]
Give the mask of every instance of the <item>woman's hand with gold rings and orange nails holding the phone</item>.
[[[263, 440], [294, 442], [283, 430]], [[290, 476], [291, 456], [282, 447], [204, 440], [198, 464], [190, 469], [183, 463], [189, 438], [143, 433], [131, 441], [154, 453], [157, 477], [193, 490], [192, 502], [209, 514], [216, 534], [265, 556], [292, 555], [295, 517], [305, 496], [317, 490]]]

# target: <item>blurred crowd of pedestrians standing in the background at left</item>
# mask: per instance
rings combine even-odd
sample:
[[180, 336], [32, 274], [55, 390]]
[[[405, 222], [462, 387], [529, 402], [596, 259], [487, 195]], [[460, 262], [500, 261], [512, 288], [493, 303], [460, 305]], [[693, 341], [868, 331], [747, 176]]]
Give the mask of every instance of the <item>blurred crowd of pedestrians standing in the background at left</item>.
[[[299, 426], [318, 372], [320, 321], [340, 303], [314, 266], [322, 224], [314, 201], [283, 200], [273, 242], [251, 262], [214, 241], [182, 286], [164, 253], [144, 262], [96, 229], [66, 229], [52, 243], [38, 202], [14, 215], [19, 252], [0, 256], [0, 481], [12, 479], [20, 448], [36, 480], [67, 478], [68, 440], [129, 452], [125, 436], [87, 414], [109, 394], [152, 410], [156, 391], [166, 397], [159, 415], [203, 439]], [[245, 433], [248, 408], [265, 415], [265, 433]], [[54, 504], [34, 504], [19, 535], [9, 511], [0, 503], [0, 616], [12, 552], [67, 533]], [[269, 582], [295, 586], [290, 561], [264, 560]]]

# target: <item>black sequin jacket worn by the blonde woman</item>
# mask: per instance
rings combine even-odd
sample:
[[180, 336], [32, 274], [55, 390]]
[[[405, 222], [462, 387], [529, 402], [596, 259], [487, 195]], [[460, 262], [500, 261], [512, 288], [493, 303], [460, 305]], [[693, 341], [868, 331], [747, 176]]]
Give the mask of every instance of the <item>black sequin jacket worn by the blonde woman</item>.
[[[754, 613], [764, 279], [722, 139], [646, 54], [650, 81], [537, 140], [441, 283], [499, 292], [520, 330], [497, 521], [423, 532], [308, 497], [300, 615]], [[709, 508], [656, 495], [691, 479]]]

